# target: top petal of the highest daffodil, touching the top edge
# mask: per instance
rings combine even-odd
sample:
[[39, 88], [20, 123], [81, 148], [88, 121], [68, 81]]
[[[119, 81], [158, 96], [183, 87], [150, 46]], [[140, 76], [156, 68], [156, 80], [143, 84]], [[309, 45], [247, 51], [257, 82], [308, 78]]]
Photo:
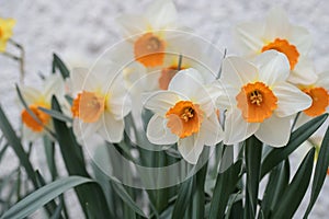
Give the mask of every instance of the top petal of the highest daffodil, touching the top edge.
[[152, 28], [163, 30], [175, 25], [178, 13], [171, 0], [155, 0], [146, 10], [146, 18]]

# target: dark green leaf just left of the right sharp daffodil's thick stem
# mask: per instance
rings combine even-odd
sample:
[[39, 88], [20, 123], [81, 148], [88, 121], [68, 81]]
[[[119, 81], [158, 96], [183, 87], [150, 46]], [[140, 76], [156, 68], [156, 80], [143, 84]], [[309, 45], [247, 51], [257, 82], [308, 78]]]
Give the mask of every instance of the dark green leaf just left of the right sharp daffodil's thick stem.
[[242, 161], [238, 160], [224, 173], [218, 174], [211, 204], [209, 219], [224, 218], [229, 196], [236, 189], [241, 177], [241, 165]]

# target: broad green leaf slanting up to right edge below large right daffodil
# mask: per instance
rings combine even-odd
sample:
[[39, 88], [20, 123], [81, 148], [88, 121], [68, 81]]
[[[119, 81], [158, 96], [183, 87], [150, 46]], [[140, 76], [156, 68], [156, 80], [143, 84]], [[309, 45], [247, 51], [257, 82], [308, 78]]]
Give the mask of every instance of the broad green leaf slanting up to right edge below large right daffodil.
[[261, 178], [269, 173], [275, 165], [296, 150], [306, 139], [308, 139], [327, 119], [328, 114], [318, 116], [304, 124], [291, 135], [291, 139], [285, 147], [274, 148], [269, 152], [262, 162]]

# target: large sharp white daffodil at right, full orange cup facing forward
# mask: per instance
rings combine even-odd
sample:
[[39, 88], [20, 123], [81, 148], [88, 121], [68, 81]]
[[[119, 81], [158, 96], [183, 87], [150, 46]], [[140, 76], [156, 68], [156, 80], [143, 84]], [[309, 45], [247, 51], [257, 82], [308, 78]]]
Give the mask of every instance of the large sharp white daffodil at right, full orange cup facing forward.
[[218, 104], [227, 110], [225, 143], [251, 135], [273, 147], [288, 141], [292, 115], [311, 104], [308, 95], [286, 82], [288, 72], [286, 56], [275, 50], [262, 53], [254, 64], [239, 57], [224, 59]]

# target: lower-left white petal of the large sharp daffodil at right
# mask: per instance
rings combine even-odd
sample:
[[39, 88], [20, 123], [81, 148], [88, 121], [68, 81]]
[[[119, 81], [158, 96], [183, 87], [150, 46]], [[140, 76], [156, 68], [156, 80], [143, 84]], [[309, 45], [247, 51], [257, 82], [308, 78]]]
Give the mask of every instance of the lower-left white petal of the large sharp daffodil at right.
[[241, 142], [253, 135], [259, 128], [259, 123], [247, 123], [241, 115], [241, 111], [232, 108], [226, 113], [225, 138], [226, 145]]

